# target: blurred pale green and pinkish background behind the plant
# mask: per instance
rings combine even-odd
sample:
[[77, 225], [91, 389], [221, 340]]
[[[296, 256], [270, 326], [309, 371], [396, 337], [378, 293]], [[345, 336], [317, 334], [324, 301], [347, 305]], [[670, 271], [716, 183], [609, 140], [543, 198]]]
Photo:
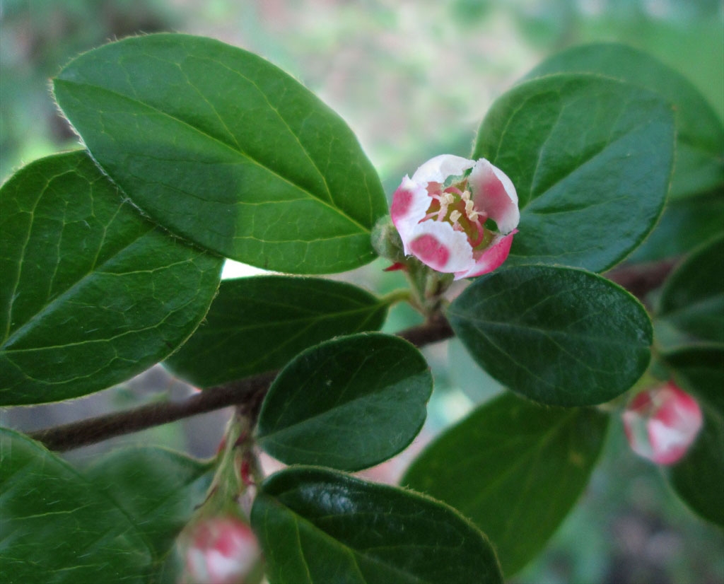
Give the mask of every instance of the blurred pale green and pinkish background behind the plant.
[[[35, 158], [77, 147], [49, 91], [68, 60], [115, 38], [158, 31], [218, 38], [290, 72], [347, 120], [388, 194], [430, 156], [467, 156], [492, 101], [544, 56], [578, 43], [621, 41], [648, 51], [694, 82], [724, 117], [720, 0], [2, 0], [0, 180]], [[381, 267], [376, 262], [356, 277], [367, 286], [376, 280], [383, 291], [401, 283], [399, 274], [383, 279]], [[395, 309], [386, 329], [415, 319]], [[430, 432], [495, 391], [459, 345], [429, 347], [426, 356], [436, 378]], [[86, 399], [2, 412], [1, 421], [30, 430], [188, 391], [154, 369]], [[209, 455], [225, 415], [127, 440]], [[118, 442], [70, 457], [83, 460]], [[617, 420], [581, 504], [514, 581], [722, 583], [724, 538], [678, 502], [657, 467], [629, 452]]]

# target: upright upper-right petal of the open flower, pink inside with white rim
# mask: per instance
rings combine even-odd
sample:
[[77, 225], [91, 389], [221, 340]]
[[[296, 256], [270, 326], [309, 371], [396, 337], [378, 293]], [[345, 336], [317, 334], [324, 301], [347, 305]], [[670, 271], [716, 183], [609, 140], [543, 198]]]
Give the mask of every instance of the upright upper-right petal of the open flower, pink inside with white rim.
[[473, 166], [468, 184], [478, 211], [484, 211], [493, 219], [502, 234], [518, 227], [521, 212], [518, 211], [518, 193], [505, 172], [480, 158]]

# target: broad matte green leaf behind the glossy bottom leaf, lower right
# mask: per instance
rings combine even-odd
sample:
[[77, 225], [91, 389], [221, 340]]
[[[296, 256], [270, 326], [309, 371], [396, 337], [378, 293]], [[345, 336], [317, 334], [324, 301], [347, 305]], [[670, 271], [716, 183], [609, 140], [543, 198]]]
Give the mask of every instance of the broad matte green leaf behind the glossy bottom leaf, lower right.
[[593, 408], [540, 407], [506, 392], [439, 436], [401, 483], [469, 517], [510, 577], [584, 491], [607, 423]]

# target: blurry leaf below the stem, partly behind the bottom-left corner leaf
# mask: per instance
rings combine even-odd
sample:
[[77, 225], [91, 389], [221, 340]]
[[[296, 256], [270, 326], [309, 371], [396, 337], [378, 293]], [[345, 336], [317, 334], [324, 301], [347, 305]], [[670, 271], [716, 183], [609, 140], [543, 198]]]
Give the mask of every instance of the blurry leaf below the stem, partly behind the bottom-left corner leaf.
[[126, 447], [99, 458], [83, 475], [132, 520], [157, 559], [174, 540], [211, 483], [210, 462], [158, 447]]

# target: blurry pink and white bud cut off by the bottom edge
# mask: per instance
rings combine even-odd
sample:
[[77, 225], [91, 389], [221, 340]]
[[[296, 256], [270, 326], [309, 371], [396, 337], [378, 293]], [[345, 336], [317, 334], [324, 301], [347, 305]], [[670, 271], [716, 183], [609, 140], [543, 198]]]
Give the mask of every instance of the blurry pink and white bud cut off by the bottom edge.
[[240, 583], [256, 567], [261, 556], [251, 528], [232, 516], [199, 522], [186, 541], [182, 582]]

